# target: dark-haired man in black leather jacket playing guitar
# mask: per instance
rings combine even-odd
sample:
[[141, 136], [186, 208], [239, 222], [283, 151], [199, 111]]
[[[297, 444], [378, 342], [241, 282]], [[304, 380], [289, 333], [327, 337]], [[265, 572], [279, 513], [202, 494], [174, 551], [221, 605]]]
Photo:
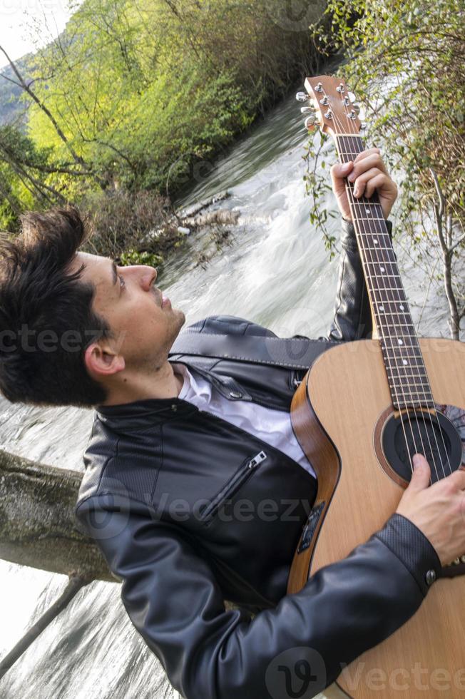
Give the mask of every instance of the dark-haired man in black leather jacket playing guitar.
[[[346, 176], [356, 196], [377, 190], [387, 218], [397, 190], [379, 151], [332, 168], [349, 219]], [[156, 271], [79, 252], [84, 239], [78, 214], [58, 210], [29, 215], [23, 237], [3, 244], [2, 391], [13, 401], [97, 407], [76, 514], [185, 698], [287, 698], [280, 678], [302, 675], [302, 657], [311, 660], [305, 696], [317, 693], [405, 623], [441, 563], [464, 551], [465, 474], [428, 488], [429, 466], [417, 457], [386, 526], [287, 596], [316, 494], [289, 418], [305, 369], [281, 354], [260, 359], [267, 343], [284, 352], [286, 342], [233, 317], [205, 319], [178, 338], [184, 315], [155, 287]], [[347, 220], [342, 243], [329, 342], [370, 332]], [[231, 356], [238, 337], [255, 358]], [[187, 350], [176, 350], [177, 338]], [[189, 353], [199, 339], [211, 354]], [[328, 346], [300, 340], [315, 352]], [[239, 608], [226, 611], [225, 598]]]

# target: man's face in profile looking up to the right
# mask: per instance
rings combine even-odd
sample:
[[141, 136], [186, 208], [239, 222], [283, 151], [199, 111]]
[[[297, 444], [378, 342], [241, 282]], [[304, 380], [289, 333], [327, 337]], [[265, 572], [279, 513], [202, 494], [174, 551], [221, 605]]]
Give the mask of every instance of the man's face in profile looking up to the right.
[[166, 361], [185, 316], [154, 286], [153, 267], [117, 267], [108, 257], [78, 252], [71, 271], [84, 265], [81, 280], [96, 288], [93, 310], [111, 328], [112, 350], [128, 369], [158, 369]]

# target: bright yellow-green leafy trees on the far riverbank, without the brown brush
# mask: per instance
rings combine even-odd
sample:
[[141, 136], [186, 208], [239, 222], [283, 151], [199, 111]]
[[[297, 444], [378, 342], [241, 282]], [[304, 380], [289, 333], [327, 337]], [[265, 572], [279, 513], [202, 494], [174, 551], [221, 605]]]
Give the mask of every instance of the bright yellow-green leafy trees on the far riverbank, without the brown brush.
[[77, 155], [102, 188], [165, 192], [170, 173], [173, 194], [312, 53], [307, 25], [282, 29], [265, 0], [86, 0], [35, 57], [36, 94], [60, 131], [33, 103], [29, 133], [54, 161]]

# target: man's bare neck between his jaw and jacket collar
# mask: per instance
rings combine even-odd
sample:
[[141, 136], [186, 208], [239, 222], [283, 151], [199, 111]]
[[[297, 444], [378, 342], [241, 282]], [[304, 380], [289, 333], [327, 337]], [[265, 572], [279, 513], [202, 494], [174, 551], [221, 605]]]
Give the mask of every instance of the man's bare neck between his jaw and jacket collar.
[[108, 399], [102, 405], [121, 405], [138, 400], [177, 398], [183, 387], [183, 377], [175, 374], [168, 360], [160, 369], [150, 373], [125, 369], [118, 374], [118, 383], [109, 389]]

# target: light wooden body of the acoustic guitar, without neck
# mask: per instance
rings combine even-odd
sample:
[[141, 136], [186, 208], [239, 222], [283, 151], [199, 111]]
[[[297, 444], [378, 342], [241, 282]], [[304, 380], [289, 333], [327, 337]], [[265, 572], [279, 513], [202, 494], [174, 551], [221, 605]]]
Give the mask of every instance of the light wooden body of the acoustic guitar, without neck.
[[[442, 339], [419, 343], [436, 404], [465, 409], [465, 345]], [[315, 505], [321, 505], [321, 514], [310, 546], [295, 553], [289, 592], [367, 541], [397, 509], [407, 481], [389, 468], [380, 446], [393, 412], [375, 340], [334, 347], [307, 372], [291, 419], [317, 471]], [[456, 573], [464, 568], [458, 562]], [[463, 697], [465, 575], [434, 583], [414, 617], [345, 668], [337, 685], [354, 699]]]

